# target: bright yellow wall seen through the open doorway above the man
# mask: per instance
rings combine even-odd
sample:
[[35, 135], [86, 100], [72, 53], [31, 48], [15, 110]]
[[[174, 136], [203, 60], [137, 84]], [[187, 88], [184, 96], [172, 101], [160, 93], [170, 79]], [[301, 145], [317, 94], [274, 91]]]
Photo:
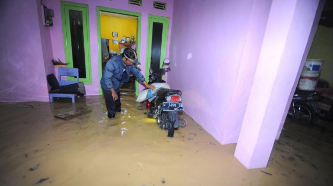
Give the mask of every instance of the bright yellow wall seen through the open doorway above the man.
[[[118, 37], [112, 37], [112, 32], [118, 33]], [[136, 19], [124, 19], [112, 16], [100, 16], [100, 36], [103, 39], [110, 40], [110, 51], [117, 51], [119, 54], [119, 45], [113, 44], [112, 40], [117, 39], [118, 43], [123, 36], [134, 36], [136, 41], [137, 35], [137, 20]]]

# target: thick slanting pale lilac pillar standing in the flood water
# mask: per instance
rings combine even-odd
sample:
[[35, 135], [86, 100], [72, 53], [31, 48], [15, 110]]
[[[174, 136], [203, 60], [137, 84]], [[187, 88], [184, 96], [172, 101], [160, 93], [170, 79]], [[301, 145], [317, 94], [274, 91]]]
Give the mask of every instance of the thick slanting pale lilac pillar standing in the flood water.
[[[273, 0], [235, 157], [266, 167], [290, 94], [312, 43], [320, 0]], [[309, 37], [312, 38], [309, 39]], [[306, 50], [308, 49], [308, 50]]]

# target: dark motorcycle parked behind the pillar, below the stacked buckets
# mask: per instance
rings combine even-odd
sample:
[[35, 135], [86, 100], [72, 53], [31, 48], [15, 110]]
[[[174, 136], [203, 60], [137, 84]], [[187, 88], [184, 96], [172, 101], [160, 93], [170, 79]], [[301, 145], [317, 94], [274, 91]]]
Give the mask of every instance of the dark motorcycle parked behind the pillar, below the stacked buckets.
[[317, 91], [296, 89], [288, 115], [310, 126], [317, 117], [324, 118], [331, 104], [323, 101], [325, 94]]

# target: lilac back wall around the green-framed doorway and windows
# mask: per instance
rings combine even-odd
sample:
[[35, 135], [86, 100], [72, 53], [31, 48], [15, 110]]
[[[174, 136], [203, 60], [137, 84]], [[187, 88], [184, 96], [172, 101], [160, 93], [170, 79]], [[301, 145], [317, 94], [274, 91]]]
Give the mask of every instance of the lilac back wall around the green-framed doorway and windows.
[[[65, 61], [64, 43], [62, 34], [62, 23], [61, 23], [61, 12], [60, 12], [60, 0], [44, 0], [47, 2], [47, 7], [55, 11], [54, 26], [50, 28], [53, 56], [54, 58], [60, 58], [61, 61]], [[140, 46], [140, 60], [141, 73], [144, 74], [145, 61], [146, 61], [146, 49], [147, 49], [147, 25], [148, 25], [148, 14], [164, 16], [170, 18], [169, 30], [171, 30], [172, 24], [172, 11], [173, 11], [173, 0], [163, 1], [167, 3], [167, 10], [159, 10], [152, 8], [153, 0], [144, 0], [142, 7], [129, 5], [128, 1], [123, 0], [71, 0], [69, 2], [87, 4], [89, 7], [89, 25], [90, 25], [90, 49], [91, 49], [91, 68], [92, 68], [92, 84], [85, 84], [87, 95], [99, 95], [99, 61], [98, 61], [98, 42], [97, 41], [97, 17], [96, 7], [107, 7], [112, 9], [126, 10], [132, 12], [141, 13], [141, 46]], [[170, 31], [169, 31], [170, 32]], [[169, 34], [170, 35], [170, 34]], [[168, 38], [170, 40], [170, 38]], [[168, 42], [170, 43], [170, 42]], [[167, 56], [168, 56], [167, 51]], [[140, 89], [143, 86], [140, 85]]]

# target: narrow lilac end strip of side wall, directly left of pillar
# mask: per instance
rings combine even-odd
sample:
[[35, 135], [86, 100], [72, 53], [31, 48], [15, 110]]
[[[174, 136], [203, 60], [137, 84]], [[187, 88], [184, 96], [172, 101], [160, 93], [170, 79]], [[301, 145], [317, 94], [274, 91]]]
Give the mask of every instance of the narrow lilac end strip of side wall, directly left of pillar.
[[270, 6], [271, 1], [257, 0], [253, 1], [253, 4], [248, 7], [251, 10], [248, 22], [249, 27], [239, 61], [239, 70], [236, 72], [237, 81], [229, 114], [225, 122], [226, 130], [223, 136], [223, 143], [234, 143], [238, 140], [241, 128], [240, 123], [243, 121], [254, 74], [257, 69], [259, 51], [262, 47]]

